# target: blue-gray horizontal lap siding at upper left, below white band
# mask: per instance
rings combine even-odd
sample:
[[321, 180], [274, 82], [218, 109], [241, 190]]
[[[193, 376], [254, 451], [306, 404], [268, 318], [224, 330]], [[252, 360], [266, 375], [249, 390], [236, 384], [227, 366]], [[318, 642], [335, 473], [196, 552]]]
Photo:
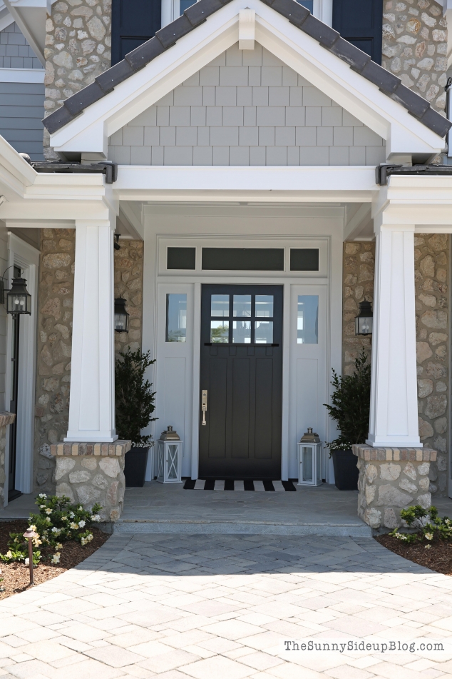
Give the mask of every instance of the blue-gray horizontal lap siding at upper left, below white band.
[[0, 134], [31, 160], [43, 160], [44, 86], [0, 82]]

